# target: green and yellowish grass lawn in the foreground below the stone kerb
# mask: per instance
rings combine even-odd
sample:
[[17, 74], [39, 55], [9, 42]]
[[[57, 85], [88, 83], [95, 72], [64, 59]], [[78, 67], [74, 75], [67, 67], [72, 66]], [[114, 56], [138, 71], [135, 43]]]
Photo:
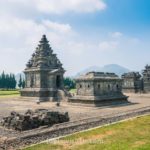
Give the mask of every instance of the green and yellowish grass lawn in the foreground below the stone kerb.
[[150, 150], [150, 116], [76, 133], [24, 150]]

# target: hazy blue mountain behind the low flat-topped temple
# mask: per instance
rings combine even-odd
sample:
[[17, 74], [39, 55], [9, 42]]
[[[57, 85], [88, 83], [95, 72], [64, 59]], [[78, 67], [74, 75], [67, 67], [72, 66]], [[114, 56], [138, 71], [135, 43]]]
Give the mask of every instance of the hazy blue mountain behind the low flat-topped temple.
[[78, 77], [80, 75], [84, 75], [90, 71], [113, 72], [113, 73], [117, 74], [118, 76], [121, 76], [123, 73], [127, 73], [130, 70], [125, 68], [125, 67], [122, 67], [120, 65], [117, 65], [117, 64], [109, 64], [109, 65], [105, 65], [103, 67], [91, 66], [91, 67], [77, 73], [75, 77]]

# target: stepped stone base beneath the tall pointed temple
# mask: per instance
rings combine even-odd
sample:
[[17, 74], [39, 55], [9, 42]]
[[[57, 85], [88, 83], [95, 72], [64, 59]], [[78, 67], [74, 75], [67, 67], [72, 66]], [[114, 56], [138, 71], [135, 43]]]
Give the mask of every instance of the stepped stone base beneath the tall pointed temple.
[[36, 101], [56, 101], [57, 90], [46, 88], [25, 88], [20, 91], [20, 95], [25, 99], [32, 99]]

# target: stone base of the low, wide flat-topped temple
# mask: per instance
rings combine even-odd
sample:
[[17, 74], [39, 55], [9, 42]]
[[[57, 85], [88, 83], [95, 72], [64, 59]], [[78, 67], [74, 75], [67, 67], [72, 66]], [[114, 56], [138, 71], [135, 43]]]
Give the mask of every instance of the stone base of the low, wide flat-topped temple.
[[94, 104], [95, 106], [105, 106], [115, 103], [124, 103], [128, 102], [128, 96], [125, 95], [116, 95], [116, 96], [75, 96], [69, 98], [71, 103], [80, 103], [80, 104]]

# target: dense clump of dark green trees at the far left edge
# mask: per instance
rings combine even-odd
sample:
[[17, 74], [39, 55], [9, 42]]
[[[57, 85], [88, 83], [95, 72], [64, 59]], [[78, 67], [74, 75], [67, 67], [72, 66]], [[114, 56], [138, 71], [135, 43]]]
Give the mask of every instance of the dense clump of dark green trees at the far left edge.
[[5, 74], [4, 71], [0, 74], [0, 89], [15, 89], [16, 84], [17, 81], [14, 74]]

